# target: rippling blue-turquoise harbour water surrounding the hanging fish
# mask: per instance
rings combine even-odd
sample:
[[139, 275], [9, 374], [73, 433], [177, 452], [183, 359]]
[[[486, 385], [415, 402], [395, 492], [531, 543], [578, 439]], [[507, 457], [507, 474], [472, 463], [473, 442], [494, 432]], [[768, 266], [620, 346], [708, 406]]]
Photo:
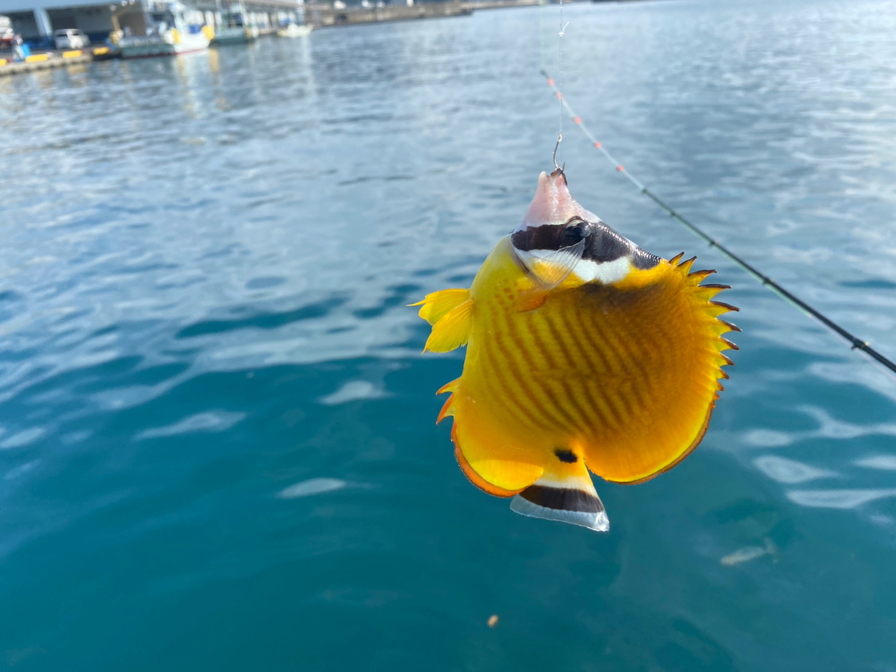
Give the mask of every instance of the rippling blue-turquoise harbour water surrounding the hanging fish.
[[[896, 4], [738, 5], [564, 6], [568, 99], [896, 355]], [[558, 19], [0, 79], [0, 668], [896, 670], [896, 378], [574, 129], [583, 205], [734, 286], [710, 430], [650, 483], [598, 482], [599, 535], [478, 492], [435, 426], [462, 352], [422, 356], [404, 304], [521, 218]]]

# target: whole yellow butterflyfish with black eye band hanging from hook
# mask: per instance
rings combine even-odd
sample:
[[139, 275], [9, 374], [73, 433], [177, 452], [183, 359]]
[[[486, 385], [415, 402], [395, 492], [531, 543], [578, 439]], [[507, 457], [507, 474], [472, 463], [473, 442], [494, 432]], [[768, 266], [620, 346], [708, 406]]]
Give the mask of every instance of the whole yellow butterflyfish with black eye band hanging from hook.
[[437, 422], [454, 455], [511, 509], [599, 531], [589, 475], [624, 484], [674, 467], [702, 440], [737, 349], [714, 271], [645, 252], [582, 208], [563, 170], [541, 173], [522, 222], [470, 289], [426, 296], [426, 351], [467, 345]]

